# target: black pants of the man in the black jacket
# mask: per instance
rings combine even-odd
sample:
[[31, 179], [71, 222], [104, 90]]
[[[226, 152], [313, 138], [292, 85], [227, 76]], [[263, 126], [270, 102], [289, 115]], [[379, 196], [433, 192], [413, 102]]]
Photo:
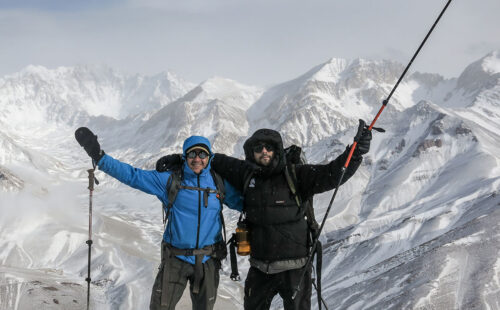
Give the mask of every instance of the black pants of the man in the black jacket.
[[295, 299], [294, 289], [300, 281], [303, 268], [287, 270], [276, 274], [266, 274], [255, 267], [250, 267], [245, 280], [245, 310], [267, 310], [276, 294], [283, 298], [285, 310], [311, 309], [311, 267], [304, 275], [304, 280]]

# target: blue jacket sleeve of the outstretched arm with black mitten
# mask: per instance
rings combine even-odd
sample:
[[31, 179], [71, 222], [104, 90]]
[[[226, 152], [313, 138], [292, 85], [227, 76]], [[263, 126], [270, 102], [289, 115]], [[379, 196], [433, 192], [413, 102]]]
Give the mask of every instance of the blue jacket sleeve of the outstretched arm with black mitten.
[[168, 172], [141, 170], [129, 164], [122, 163], [109, 155], [104, 155], [98, 163], [99, 170], [145, 193], [155, 195], [160, 200], [166, 199]]

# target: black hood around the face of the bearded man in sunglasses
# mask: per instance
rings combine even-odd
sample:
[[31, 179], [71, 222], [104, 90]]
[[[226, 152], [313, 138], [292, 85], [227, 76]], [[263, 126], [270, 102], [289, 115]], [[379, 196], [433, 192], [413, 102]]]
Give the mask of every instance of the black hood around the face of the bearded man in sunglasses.
[[274, 158], [269, 166], [262, 167], [262, 172], [264, 174], [279, 173], [285, 167], [285, 150], [283, 148], [283, 140], [281, 135], [276, 130], [272, 129], [259, 129], [254, 134], [245, 141], [243, 144], [243, 150], [245, 150], [245, 157], [247, 161], [256, 164], [252, 148], [259, 142], [269, 143], [274, 146]]

